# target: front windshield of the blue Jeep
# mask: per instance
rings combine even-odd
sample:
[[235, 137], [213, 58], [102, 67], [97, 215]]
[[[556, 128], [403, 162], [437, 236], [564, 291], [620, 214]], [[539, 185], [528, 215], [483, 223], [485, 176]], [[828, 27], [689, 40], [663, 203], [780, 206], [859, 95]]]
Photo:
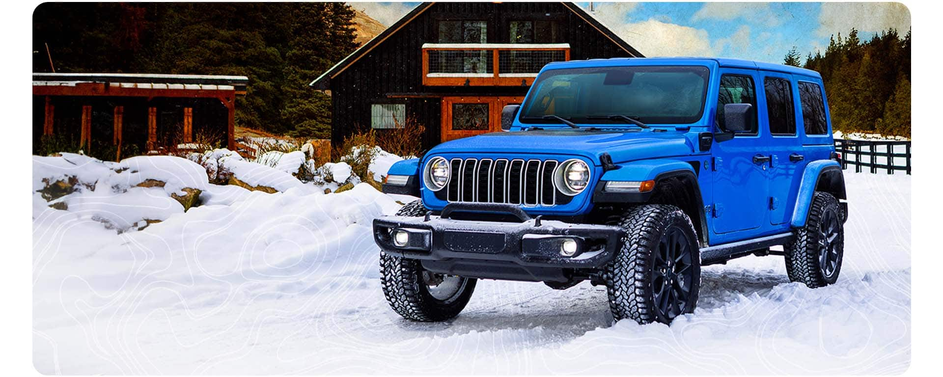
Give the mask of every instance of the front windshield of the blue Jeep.
[[706, 67], [635, 66], [550, 70], [540, 74], [522, 123], [624, 123], [623, 115], [642, 123], [694, 123], [701, 119], [707, 93]]

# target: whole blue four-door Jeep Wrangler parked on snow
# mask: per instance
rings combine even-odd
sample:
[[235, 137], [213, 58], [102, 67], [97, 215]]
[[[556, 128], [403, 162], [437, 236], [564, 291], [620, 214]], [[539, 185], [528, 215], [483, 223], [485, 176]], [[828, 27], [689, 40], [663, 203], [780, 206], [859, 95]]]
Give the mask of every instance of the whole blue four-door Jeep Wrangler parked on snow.
[[373, 221], [384, 294], [406, 319], [455, 317], [476, 279], [588, 280], [615, 320], [670, 323], [694, 310], [701, 266], [751, 254], [785, 255], [808, 287], [835, 283], [848, 206], [818, 73], [559, 62], [503, 111], [505, 132], [389, 169], [385, 192], [422, 198]]

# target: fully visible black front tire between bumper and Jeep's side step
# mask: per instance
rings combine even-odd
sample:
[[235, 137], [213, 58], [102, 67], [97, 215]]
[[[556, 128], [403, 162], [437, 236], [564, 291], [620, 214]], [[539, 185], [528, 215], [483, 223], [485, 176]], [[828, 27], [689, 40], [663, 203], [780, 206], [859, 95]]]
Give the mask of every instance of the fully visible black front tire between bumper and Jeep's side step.
[[[694, 225], [685, 212], [674, 205], [639, 205], [627, 210], [620, 217], [618, 225], [625, 230], [626, 237], [622, 239], [620, 251], [604, 273], [613, 318], [631, 319], [640, 324], [653, 321], [670, 323], [679, 315], [692, 313], [698, 302], [698, 290], [701, 288], [701, 254]], [[665, 286], [656, 282], [659, 279], [653, 277], [658, 273], [655, 270], [656, 259], [664, 259], [658, 255], [663, 253], [659, 245], [666, 235], [687, 241], [687, 251], [681, 251], [679, 254], [688, 255], [689, 269], [681, 271], [681, 274], [687, 276], [684, 279], [672, 280], [684, 281], [681, 285], [687, 286], [688, 290], [685, 293], [687, 296], [677, 293], [678, 297], [681, 297], [678, 301], [683, 304], [679, 304], [674, 313], [668, 314], [660, 310], [659, 305], [655, 303], [654, 285]], [[682, 266], [677, 263], [673, 267]], [[664, 280], [661, 278], [661, 281]]]

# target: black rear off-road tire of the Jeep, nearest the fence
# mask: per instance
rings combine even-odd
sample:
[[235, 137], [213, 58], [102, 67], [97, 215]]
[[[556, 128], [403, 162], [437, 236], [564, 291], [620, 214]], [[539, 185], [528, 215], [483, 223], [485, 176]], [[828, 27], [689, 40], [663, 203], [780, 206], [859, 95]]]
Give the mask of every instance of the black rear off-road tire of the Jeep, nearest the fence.
[[786, 245], [786, 273], [790, 281], [802, 282], [810, 288], [835, 283], [845, 249], [842, 217], [835, 196], [827, 192], [813, 194], [805, 226], [796, 229], [792, 242]]

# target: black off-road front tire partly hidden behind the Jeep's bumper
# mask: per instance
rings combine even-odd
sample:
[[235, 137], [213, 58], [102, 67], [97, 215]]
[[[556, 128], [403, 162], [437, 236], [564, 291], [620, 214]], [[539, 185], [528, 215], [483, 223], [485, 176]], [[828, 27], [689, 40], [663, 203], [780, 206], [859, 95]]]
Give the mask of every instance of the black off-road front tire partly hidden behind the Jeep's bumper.
[[[422, 201], [415, 201], [404, 205], [396, 215], [418, 217], [425, 215], [425, 211]], [[386, 296], [389, 306], [407, 320], [424, 322], [455, 318], [469, 303], [477, 282], [472, 278], [458, 277], [459, 286], [455, 295], [439, 300], [430, 293], [425, 279], [431, 275], [422, 269], [419, 260], [389, 255], [382, 251], [380, 274], [383, 295]]]

